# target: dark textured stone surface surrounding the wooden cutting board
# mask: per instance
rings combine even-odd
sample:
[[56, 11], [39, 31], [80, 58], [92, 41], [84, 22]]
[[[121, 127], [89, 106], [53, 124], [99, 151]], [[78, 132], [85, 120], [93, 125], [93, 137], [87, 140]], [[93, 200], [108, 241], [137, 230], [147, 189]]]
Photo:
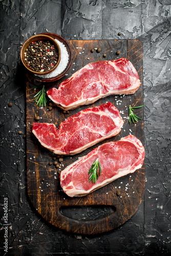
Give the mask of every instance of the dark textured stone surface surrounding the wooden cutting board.
[[[2, 254], [7, 197], [9, 255], [168, 255], [170, 0], [2, 0], [0, 6]], [[111, 232], [76, 236], [58, 230], [36, 214], [27, 197], [25, 71], [19, 51], [28, 37], [46, 31], [68, 40], [121, 38], [143, 43], [145, 196], [136, 214]], [[78, 214], [81, 218], [82, 211]]]

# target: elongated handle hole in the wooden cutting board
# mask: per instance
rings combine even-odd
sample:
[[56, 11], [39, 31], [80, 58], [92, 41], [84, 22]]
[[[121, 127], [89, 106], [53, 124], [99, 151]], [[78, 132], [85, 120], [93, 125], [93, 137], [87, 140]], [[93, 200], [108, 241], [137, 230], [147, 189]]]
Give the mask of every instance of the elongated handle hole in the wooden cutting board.
[[112, 205], [61, 206], [60, 213], [79, 221], [93, 221], [106, 218], [117, 211]]

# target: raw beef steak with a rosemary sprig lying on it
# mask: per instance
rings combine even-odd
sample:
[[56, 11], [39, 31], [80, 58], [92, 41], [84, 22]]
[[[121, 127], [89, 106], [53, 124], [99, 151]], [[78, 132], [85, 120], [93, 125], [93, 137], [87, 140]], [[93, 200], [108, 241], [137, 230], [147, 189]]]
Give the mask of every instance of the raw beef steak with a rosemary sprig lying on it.
[[[88, 173], [97, 158], [101, 165], [101, 175], [94, 184], [89, 182]], [[69, 165], [60, 174], [60, 184], [69, 197], [86, 196], [121, 176], [134, 173], [141, 168], [143, 160], [144, 147], [141, 141], [129, 135], [119, 141], [100, 145]]]

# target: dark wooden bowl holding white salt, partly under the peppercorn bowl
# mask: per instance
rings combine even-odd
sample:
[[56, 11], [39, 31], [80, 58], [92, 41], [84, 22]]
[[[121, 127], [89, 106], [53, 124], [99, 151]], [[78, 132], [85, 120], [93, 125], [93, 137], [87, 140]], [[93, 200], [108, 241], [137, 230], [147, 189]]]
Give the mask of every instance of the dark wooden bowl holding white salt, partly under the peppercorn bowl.
[[62, 44], [65, 45], [65, 47], [67, 48], [67, 52], [69, 54], [69, 60], [68, 60], [68, 63], [67, 63], [67, 67], [65, 68], [65, 70], [63, 70], [57, 76], [50, 77], [50, 78], [44, 78], [44, 77], [40, 77], [40, 76], [37, 76], [37, 75], [33, 75], [33, 78], [35, 80], [38, 80], [38, 81], [41, 81], [41, 82], [53, 82], [53, 81], [56, 81], [56, 80], [62, 78], [63, 76], [65, 76], [68, 73], [68, 71], [70, 70], [71, 65], [72, 65], [72, 51], [71, 51], [71, 47], [70, 47], [68, 41], [66, 39], [64, 39], [62, 36], [60, 36], [58, 34], [55, 34], [55, 33], [49, 33], [49, 32], [41, 33], [41, 34], [42, 35], [49, 35], [51, 38], [57, 39], [58, 41], [62, 42]]

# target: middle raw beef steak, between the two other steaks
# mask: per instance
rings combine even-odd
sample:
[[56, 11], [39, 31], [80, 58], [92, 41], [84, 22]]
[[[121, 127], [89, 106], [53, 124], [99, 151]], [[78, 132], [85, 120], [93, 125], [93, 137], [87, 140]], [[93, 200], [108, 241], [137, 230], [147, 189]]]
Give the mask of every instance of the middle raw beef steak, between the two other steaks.
[[33, 123], [32, 132], [42, 146], [58, 155], [75, 155], [96, 143], [117, 135], [123, 120], [117, 108], [105, 103], [78, 112], [60, 123]]

